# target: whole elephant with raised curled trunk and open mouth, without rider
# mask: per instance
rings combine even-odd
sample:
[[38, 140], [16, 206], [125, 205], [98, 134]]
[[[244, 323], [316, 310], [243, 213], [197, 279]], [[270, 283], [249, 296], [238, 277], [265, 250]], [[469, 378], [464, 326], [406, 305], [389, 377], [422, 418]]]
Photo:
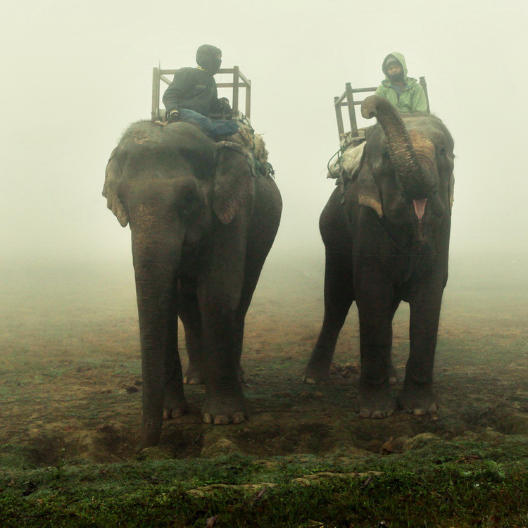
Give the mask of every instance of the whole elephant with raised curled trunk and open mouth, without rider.
[[[398, 406], [437, 409], [433, 365], [442, 294], [448, 277], [453, 205], [453, 139], [429, 113], [398, 113], [368, 96], [358, 169], [344, 175], [320, 216], [325, 244], [325, 315], [302, 379], [329, 377], [334, 348], [353, 301], [360, 322], [360, 417], [384, 418]], [[357, 148], [357, 147], [356, 147]], [[410, 305], [410, 354], [398, 397], [389, 382], [392, 320]]]

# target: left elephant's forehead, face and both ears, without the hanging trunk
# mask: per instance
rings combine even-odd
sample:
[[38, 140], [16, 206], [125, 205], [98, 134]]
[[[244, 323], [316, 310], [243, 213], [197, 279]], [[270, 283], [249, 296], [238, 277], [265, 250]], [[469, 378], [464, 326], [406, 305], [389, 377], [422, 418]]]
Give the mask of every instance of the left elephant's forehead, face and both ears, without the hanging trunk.
[[146, 208], [164, 220], [172, 210], [169, 216], [184, 228], [184, 239], [194, 240], [207, 231], [213, 211], [220, 222], [229, 223], [253, 187], [241, 151], [219, 151], [186, 122], [162, 127], [141, 121], [128, 128], [113, 150], [103, 196], [122, 227], [130, 222], [132, 232], [144, 225], [139, 220]]

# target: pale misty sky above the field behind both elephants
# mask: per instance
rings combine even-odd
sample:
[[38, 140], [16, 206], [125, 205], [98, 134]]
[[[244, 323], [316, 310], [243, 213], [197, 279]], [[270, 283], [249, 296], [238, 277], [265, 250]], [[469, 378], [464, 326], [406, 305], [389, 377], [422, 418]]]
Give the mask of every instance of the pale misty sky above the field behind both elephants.
[[401, 51], [455, 139], [451, 253], [524, 252], [527, 23], [526, 0], [4, 1], [2, 257], [130, 258], [101, 196], [106, 161], [150, 117], [153, 66], [194, 65], [200, 44], [253, 83], [251, 121], [284, 199], [275, 251], [322, 249], [333, 96], [379, 84]]

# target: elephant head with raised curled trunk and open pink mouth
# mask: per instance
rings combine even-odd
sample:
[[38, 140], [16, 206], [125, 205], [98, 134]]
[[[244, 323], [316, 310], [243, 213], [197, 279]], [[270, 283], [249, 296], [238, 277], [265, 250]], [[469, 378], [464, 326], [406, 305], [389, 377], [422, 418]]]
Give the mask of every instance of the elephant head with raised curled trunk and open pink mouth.
[[378, 125], [366, 133], [359, 202], [423, 240], [451, 212], [453, 139], [439, 118], [398, 113], [377, 95], [363, 101], [361, 113]]

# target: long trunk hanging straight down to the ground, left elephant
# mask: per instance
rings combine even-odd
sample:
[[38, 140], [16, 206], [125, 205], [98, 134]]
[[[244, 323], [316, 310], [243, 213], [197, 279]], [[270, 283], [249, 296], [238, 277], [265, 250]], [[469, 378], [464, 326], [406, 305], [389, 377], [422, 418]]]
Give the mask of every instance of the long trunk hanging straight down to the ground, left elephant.
[[[165, 358], [177, 306], [181, 244], [160, 233], [132, 230], [142, 351], [142, 447], [158, 444], [163, 423]], [[175, 353], [175, 351], [172, 351]]]

